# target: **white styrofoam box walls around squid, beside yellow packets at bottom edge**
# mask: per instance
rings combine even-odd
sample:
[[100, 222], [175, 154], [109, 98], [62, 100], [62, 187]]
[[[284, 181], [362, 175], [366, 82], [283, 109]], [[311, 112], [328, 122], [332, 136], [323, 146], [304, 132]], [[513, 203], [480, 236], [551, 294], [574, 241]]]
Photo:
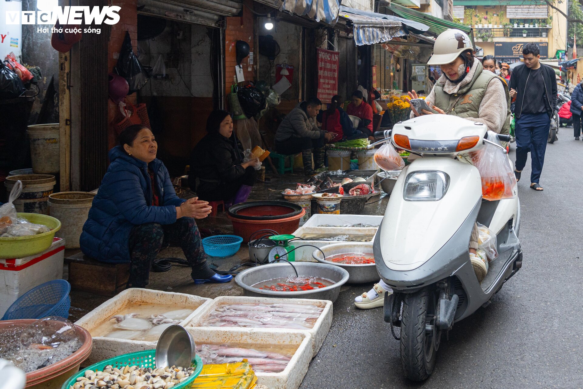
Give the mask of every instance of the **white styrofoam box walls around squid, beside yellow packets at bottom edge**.
[[187, 327], [195, 344], [261, 344], [294, 345], [296, 352], [279, 373], [255, 373], [257, 384], [269, 389], [297, 389], [308, 372], [312, 359], [311, 335], [306, 331], [284, 330], [279, 328], [202, 328]]

